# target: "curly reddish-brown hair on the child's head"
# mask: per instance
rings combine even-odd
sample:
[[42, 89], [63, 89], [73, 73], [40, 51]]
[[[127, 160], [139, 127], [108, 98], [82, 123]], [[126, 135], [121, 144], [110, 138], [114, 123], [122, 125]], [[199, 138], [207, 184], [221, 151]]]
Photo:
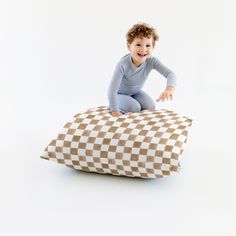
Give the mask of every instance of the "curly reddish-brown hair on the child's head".
[[159, 36], [156, 33], [156, 30], [146, 23], [135, 24], [127, 32], [126, 38], [127, 42], [130, 44], [134, 41], [135, 38], [153, 38], [153, 47], [155, 42], [159, 40]]

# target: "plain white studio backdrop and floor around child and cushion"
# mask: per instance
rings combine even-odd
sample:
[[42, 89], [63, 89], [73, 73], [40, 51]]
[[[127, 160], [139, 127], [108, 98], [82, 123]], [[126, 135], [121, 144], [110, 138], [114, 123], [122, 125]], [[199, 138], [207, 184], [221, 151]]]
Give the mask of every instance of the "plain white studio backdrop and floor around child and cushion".
[[[3, 0], [0, 3], [0, 235], [236, 235], [235, 3], [230, 0]], [[182, 171], [142, 180], [39, 158], [77, 112], [107, 105], [125, 34], [157, 29], [193, 118]], [[165, 79], [153, 71], [145, 91]]]

